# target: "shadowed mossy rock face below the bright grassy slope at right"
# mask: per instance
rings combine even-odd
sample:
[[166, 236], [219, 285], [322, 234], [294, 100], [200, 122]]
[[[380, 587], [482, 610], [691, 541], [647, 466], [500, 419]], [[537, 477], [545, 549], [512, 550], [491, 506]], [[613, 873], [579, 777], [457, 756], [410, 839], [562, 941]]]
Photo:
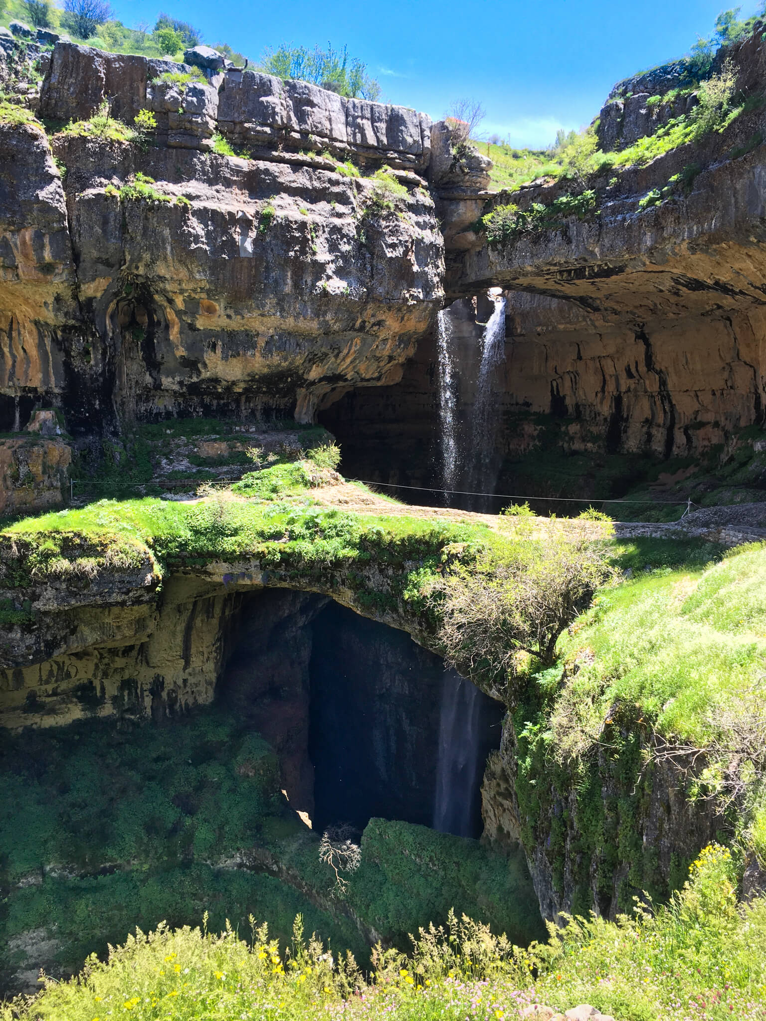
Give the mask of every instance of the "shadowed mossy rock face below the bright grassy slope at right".
[[[629, 759], [600, 751], [575, 781], [535, 762], [513, 724], [504, 728], [484, 774], [484, 836], [499, 847], [522, 843], [543, 918], [561, 922], [563, 912], [593, 911], [614, 920], [630, 910], [635, 891], [664, 900], [716, 839], [723, 819], [715, 803], [689, 796], [693, 768], [654, 763], [641, 770], [640, 728], [631, 737]], [[582, 798], [583, 786], [592, 798]]]

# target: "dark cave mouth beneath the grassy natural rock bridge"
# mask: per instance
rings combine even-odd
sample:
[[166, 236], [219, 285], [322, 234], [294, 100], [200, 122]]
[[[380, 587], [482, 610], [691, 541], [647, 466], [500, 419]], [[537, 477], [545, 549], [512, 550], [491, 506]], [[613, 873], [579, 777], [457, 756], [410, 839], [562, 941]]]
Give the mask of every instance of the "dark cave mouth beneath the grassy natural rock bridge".
[[481, 835], [481, 782], [502, 708], [403, 631], [324, 596], [243, 599], [217, 698], [275, 748], [313, 827], [371, 818]]

